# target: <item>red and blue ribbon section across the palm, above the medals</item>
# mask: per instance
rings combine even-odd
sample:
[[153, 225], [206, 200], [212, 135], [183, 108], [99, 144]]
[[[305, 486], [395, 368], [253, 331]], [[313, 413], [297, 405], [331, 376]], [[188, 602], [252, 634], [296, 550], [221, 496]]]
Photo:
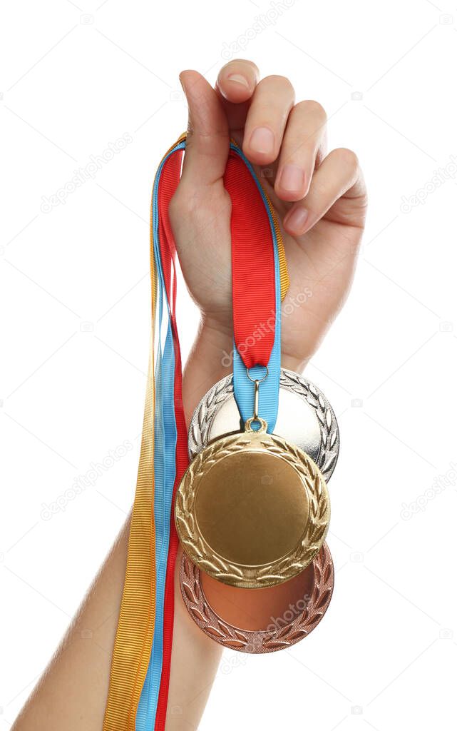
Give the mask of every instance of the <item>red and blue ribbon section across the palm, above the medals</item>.
[[258, 415], [272, 432], [281, 372], [281, 284], [284, 295], [288, 286], [283, 240], [250, 162], [235, 145], [231, 149], [236, 156], [229, 157], [224, 183], [232, 199], [234, 395], [243, 422], [253, 416], [256, 395]]

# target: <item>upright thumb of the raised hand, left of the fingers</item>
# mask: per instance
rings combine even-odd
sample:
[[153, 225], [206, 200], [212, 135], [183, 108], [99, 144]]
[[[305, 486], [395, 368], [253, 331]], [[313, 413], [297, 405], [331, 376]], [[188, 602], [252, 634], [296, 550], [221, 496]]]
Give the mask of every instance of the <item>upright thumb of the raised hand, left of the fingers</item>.
[[229, 123], [217, 92], [196, 71], [180, 74], [188, 102], [183, 183], [207, 186], [222, 178], [229, 156]]

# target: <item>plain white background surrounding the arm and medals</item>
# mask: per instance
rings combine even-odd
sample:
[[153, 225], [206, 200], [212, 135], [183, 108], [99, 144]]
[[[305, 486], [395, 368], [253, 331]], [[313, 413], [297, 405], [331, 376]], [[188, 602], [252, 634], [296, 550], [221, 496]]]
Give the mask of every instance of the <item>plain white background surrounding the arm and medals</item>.
[[[235, 55], [263, 75], [288, 75], [298, 99], [326, 107], [330, 145], [357, 151], [371, 199], [353, 292], [307, 371], [341, 430], [329, 535], [337, 575], [329, 612], [307, 640], [272, 656], [226, 654], [200, 729], [453, 722], [455, 3], [5, 0], [1, 730], [131, 505], [150, 189], [185, 128], [178, 72], [193, 67], [214, 81], [224, 44], [245, 45], [267, 11], [271, 24]], [[131, 143], [93, 180], [42, 212], [43, 196], [125, 133]], [[439, 168], [448, 179], [437, 185]], [[423, 202], [410, 207], [416, 194]], [[184, 294], [180, 305], [187, 352], [196, 312]], [[126, 439], [134, 448], [45, 520], [43, 504]], [[431, 499], [439, 476], [447, 485]], [[421, 509], [405, 519], [402, 504], [414, 501]]]

